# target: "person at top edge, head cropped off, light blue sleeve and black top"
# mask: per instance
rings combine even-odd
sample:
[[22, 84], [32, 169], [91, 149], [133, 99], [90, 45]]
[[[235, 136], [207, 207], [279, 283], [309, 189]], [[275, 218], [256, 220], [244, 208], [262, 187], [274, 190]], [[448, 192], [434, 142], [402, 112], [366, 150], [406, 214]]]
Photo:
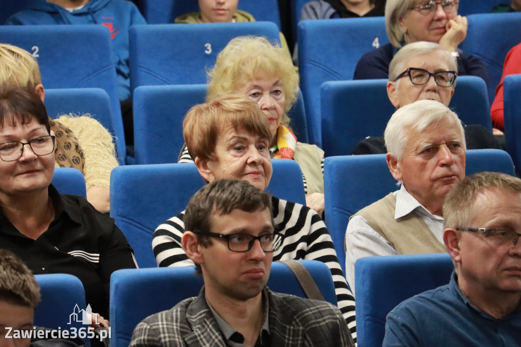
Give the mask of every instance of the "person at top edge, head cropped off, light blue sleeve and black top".
[[313, 0], [302, 6], [300, 20], [383, 16], [385, 0]]

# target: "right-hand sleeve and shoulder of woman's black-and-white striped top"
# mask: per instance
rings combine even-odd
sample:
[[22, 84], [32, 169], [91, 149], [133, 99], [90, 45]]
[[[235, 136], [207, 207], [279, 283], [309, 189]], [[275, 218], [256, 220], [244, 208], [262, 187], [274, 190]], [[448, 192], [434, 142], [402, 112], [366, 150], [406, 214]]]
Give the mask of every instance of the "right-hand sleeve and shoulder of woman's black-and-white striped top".
[[284, 234], [274, 260], [311, 259], [325, 263], [331, 270], [338, 307], [353, 340], [356, 341], [355, 302], [334, 250], [324, 221], [309, 207], [272, 197], [273, 216], [279, 232]]

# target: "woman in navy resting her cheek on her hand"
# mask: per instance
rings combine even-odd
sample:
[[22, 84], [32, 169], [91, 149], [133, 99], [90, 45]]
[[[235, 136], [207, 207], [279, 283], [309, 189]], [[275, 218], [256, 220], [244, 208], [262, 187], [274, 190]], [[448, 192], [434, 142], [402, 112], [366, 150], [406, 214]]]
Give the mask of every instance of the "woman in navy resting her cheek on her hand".
[[457, 48], [467, 35], [467, 18], [457, 15], [457, 7], [457, 0], [387, 0], [386, 31], [391, 42], [362, 56], [354, 79], [387, 78], [389, 63], [402, 46], [429, 41], [439, 43], [457, 57], [458, 76], [478, 76], [488, 83], [482, 61]]

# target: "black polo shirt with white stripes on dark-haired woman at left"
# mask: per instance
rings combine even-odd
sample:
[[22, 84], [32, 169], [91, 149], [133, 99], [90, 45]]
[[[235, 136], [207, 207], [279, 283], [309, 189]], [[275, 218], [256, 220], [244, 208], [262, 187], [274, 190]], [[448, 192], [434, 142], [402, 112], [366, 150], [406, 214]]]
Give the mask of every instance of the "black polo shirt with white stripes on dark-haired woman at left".
[[137, 267], [133, 251], [114, 219], [82, 196], [59, 194], [53, 185], [49, 196], [55, 217], [36, 240], [21, 234], [0, 209], [0, 247], [18, 255], [35, 275], [78, 277], [92, 312], [108, 318], [110, 275]]

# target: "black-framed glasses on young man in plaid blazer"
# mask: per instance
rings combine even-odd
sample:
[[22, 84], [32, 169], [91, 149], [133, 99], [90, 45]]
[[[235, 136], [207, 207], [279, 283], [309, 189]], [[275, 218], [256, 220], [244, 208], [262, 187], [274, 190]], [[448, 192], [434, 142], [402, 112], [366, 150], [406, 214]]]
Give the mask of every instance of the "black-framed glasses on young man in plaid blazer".
[[228, 242], [228, 249], [232, 252], [247, 252], [253, 247], [255, 240], [261, 244], [264, 252], [275, 252], [282, 245], [282, 235], [279, 233], [267, 233], [259, 236], [250, 234], [219, 234], [216, 232], [194, 231], [194, 234], [205, 235]]

